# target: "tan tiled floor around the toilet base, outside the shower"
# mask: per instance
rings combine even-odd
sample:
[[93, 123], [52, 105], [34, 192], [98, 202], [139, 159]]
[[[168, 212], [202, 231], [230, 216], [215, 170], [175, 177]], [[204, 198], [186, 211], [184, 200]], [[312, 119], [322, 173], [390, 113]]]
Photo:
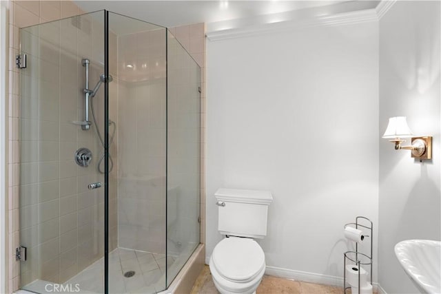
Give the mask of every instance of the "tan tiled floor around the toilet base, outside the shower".
[[[350, 293], [351, 291], [347, 291]], [[191, 294], [218, 294], [209, 266], [205, 266], [194, 283]], [[256, 294], [342, 294], [343, 288], [282, 279], [264, 275]], [[374, 292], [376, 294], [376, 292]]]

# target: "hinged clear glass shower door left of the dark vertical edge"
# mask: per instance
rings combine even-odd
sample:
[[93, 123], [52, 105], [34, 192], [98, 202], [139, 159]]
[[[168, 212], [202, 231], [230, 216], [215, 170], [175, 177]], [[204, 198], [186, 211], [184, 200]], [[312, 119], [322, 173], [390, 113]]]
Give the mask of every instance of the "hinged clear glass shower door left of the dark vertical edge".
[[[19, 132], [25, 290], [47, 293], [63, 286], [103, 293], [104, 190], [88, 189], [104, 180], [96, 133], [96, 124], [103, 127], [104, 121], [103, 89], [85, 103], [85, 90], [98, 85], [104, 72], [103, 21], [103, 12], [94, 12], [20, 30], [21, 54], [28, 61], [20, 70]], [[96, 122], [91, 116], [85, 122], [91, 103]]]

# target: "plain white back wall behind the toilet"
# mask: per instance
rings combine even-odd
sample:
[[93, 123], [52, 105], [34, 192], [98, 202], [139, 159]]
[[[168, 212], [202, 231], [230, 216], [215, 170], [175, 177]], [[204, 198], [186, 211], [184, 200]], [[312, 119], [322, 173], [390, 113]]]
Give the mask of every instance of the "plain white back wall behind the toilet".
[[206, 257], [216, 189], [265, 189], [267, 266], [342, 277], [343, 225], [378, 226], [378, 138], [378, 22], [207, 41]]

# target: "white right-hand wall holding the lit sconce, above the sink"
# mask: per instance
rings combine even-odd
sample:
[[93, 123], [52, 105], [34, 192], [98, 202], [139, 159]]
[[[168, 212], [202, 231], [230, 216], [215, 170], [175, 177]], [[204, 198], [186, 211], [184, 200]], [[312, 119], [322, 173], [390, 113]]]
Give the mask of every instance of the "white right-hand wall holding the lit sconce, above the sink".
[[433, 159], [420, 163], [380, 140], [379, 282], [387, 293], [418, 293], [393, 246], [441, 238], [439, 1], [397, 1], [380, 19], [380, 135], [398, 115], [433, 136]]

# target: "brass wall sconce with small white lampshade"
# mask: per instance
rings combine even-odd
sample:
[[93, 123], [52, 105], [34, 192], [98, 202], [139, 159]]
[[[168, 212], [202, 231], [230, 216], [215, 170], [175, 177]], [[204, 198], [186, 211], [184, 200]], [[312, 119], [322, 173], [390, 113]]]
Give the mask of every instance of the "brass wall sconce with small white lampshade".
[[[389, 125], [387, 125], [386, 132], [384, 132], [382, 138], [392, 139], [389, 142], [395, 143], [396, 150], [411, 150], [412, 157], [419, 158], [420, 161], [432, 158], [432, 137], [413, 137], [407, 125], [406, 116], [389, 118]], [[406, 142], [402, 138], [411, 138], [411, 145], [402, 146], [401, 143]]]

